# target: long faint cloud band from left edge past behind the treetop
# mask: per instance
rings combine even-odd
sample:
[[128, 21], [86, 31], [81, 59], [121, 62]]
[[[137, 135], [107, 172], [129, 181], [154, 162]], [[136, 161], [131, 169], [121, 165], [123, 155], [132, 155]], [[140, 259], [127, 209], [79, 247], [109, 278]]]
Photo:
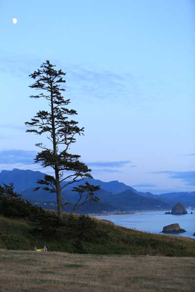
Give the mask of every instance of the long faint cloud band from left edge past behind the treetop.
[[[13, 74], [15, 77], [28, 78], [28, 75], [39, 68], [44, 61], [38, 57], [7, 55], [0, 57], [0, 71]], [[122, 71], [116, 73], [90, 64], [63, 64], [58, 59], [52, 59], [51, 62], [67, 72], [65, 87], [69, 95], [74, 98], [82, 95], [82, 98], [89, 100], [92, 98], [118, 100], [120, 97], [128, 102], [135, 99], [141, 102], [151, 98], [141, 90], [140, 76], [135, 73]]]

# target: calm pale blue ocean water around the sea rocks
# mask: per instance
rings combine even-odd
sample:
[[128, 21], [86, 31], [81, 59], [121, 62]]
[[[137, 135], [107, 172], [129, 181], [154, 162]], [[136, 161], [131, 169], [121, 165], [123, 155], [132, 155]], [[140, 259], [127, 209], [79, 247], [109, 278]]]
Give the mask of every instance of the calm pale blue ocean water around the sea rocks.
[[113, 221], [116, 225], [137, 229], [140, 231], [163, 234], [161, 233], [164, 226], [179, 223], [180, 227], [186, 232], [179, 234], [170, 234], [174, 236], [191, 237], [195, 239], [195, 210], [187, 209], [186, 215], [165, 215], [165, 211], [147, 211], [137, 212], [129, 215], [106, 215], [97, 216], [98, 219], [107, 219]]

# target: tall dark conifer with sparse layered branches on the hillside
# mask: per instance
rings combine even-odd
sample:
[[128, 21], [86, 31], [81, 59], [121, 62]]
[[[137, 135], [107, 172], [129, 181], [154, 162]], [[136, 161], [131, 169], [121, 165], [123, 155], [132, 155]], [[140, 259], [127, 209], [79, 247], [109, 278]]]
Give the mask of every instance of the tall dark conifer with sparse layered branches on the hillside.
[[[58, 215], [62, 217], [63, 207], [70, 203], [65, 196], [61, 195], [62, 190], [71, 183], [80, 182], [84, 178], [92, 178], [92, 176], [91, 169], [79, 161], [80, 156], [69, 153], [71, 144], [76, 142], [76, 135], [83, 135], [84, 128], [79, 128], [78, 122], [71, 118], [77, 115], [77, 111], [69, 110], [67, 106], [70, 104], [70, 99], [65, 100], [62, 96], [65, 89], [61, 85], [65, 83], [63, 78], [66, 73], [56, 70], [55, 67], [56, 65], [52, 65], [47, 60], [40, 66], [40, 69], [29, 75], [35, 79], [30, 88], [41, 92], [30, 97], [44, 98], [49, 110], [39, 110], [31, 122], [26, 122], [25, 125], [29, 127], [27, 132], [39, 135], [46, 133], [52, 144], [51, 147], [42, 143], [36, 144], [42, 150], [38, 152], [35, 162], [40, 163], [43, 167], [51, 166], [55, 171], [55, 176], [46, 175], [44, 180], [39, 180], [38, 183], [44, 190], [56, 193]], [[93, 197], [91, 197], [91, 201], [93, 201]]]

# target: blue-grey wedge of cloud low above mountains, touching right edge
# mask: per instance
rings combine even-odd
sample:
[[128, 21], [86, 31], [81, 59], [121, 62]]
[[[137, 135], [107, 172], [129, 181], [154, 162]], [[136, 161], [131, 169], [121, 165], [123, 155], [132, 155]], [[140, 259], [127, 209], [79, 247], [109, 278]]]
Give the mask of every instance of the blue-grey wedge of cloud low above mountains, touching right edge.
[[171, 179], [179, 179], [186, 185], [195, 185], [195, 171], [156, 171], [154, 174], [168, 174]]

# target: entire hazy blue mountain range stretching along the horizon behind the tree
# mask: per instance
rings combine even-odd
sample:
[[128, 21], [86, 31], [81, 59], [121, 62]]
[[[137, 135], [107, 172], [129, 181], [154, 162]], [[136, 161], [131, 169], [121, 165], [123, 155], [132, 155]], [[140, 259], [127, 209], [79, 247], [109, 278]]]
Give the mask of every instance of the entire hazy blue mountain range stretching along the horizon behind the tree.
[[[56, 202], [56, 195], [39, 190], [33, 191], [38, 185], [37, 180], [43, 179], [44, 173], [32, 170], [13, 169], [12, 171], [2, 170], [0, 172], [1, 183], [14, 183], [16, 190], [22, 194], [23, 198], [32, 202]], [[180, 201], [185, 206], [195, 206], [195, 192], [192, 193], [167, 193], [154, 195], [150, 192], [138, 192], [129, 185], [118, 181], [102, 182], [95, 179], [84, 179], [82, 182], [73, 183], [62, 192], [72, 202], [77, 201], [78, 194], [71, 192], [73, 186], [88, 181], [94, 185], [99, 185], [100, 190], [97, 196], [100, 201], [98, 204], [86, 204], [82, 207], [83, 212], [88, 208], [88, 212], [92, 211], [108, 211], [111, 210], [158, 210], [170, 209], [173, 205]], [[69, 206], [70, 207], [70, 206]], [[69, 208], [67, 207], [67, 208]], [[80, 211], [82, 211], [80, 209]], [[93, 210], [92, 210], [93, 209]]]

